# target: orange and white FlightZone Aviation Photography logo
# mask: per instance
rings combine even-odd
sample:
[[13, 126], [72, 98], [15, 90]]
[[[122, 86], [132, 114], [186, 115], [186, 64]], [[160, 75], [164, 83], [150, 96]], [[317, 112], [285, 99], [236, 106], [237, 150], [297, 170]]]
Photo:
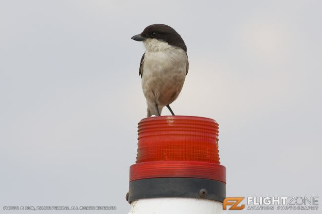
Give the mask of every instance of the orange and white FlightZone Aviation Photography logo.
[[243, 203], [245, 197], [228, 197], [222, 202], [222, 209], [227, 210], [305, 210], [317, 211], [319, 197], [246, 197], [247, 206]]

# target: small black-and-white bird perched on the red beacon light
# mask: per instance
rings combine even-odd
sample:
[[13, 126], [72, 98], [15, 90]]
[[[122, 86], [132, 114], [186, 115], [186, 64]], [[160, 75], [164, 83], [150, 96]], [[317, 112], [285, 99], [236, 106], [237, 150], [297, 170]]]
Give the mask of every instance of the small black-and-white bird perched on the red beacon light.
[[147, 100], [147, 117], [161, 116], [164, 106], [174, 115], [170, 104], [181, 92], [189, 70], [186, 44], [165, 24], [149, 25], [131, 39], [143, 42], [146, 49], [141, 57], [139, 76]]

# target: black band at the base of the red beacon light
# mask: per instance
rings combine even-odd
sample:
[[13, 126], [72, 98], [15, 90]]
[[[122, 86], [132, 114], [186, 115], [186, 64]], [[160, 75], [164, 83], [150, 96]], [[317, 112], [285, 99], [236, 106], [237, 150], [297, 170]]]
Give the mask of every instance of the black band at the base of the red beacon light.
[[222, 202], [226, 198], [226, 184], [200, 178], [149, 178], [131, 181], [128, 202], [142, 198], [205, 198]]

